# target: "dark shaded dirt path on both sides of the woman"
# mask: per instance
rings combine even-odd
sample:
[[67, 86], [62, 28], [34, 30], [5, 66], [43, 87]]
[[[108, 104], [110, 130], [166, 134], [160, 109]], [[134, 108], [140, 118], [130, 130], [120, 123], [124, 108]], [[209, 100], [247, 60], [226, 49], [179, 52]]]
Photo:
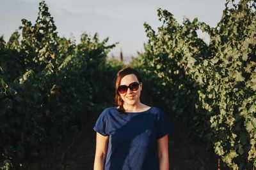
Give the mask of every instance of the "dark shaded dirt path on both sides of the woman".
[[[32, 164], [29, 169], [93, 170], [96, 134], [92, 127], [97, 117], [99, 115], [95, 115], [85, 123], [83, 131], [74, 138], [72, 143], [61, 146], [55, 153], [49, 153], [44, 160]], [[195, 145], [186, 136], [181, 136], [181, 134], [186, 134], [182, 122], [174, 122], [171, 117], [168, 118], [175, 129], [175, 132], [169, 136], [170, 169], [218, 169], [216, 155], [212, 152], [205, 152], [203, 146]], [[222, 167], [221, 170], [224, 168]]]

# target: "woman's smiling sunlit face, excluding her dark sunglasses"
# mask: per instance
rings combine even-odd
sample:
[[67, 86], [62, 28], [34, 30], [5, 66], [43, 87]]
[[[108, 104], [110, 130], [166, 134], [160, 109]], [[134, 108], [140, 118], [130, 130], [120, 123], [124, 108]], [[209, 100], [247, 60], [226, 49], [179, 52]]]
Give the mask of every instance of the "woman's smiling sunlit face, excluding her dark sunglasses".
[[[138, 78], [135, 74], [128, 74], [122, 78], [120, 81], [120, 85], [127, 85], [129, 86], [133, 82], [138, 82]], [[140, 92], [142, 89], [142, 83], [140, 83], [139, 89], [136, 91], [132, 91], [131, 89], [127, 89], [127, 92], [125, 94], [120, 94], [122, 100], [124, 103], [129, 105], [138, 104], [140, 102]]]

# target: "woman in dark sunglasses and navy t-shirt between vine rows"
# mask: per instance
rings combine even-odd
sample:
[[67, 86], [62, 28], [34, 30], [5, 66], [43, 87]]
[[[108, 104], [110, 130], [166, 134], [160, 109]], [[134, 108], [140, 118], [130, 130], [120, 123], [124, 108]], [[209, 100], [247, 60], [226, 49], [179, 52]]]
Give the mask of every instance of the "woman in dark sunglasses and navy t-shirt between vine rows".
[[169, 169], [168, 133], [163, 111], [140, 102], [141, 77], [124, 67], [116, 75], [117, 107], [106, 108], [95, 127], [94, 170]]

